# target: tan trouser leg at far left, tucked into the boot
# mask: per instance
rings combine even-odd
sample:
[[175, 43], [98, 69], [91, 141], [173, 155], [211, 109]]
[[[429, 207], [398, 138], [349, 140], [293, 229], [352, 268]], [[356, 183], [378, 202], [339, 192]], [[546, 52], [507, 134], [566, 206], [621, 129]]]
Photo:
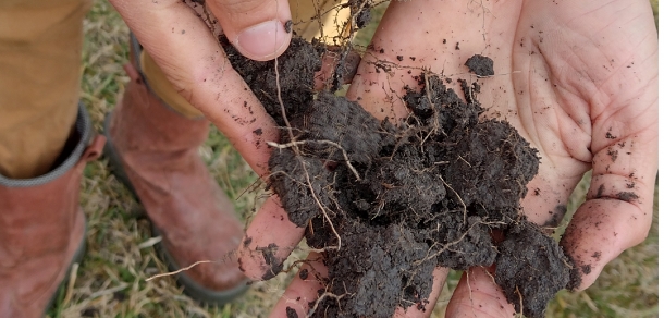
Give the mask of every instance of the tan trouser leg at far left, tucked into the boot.
[[0, 174], [48, 172], [78, 102], [89, 0], [0, 1]]

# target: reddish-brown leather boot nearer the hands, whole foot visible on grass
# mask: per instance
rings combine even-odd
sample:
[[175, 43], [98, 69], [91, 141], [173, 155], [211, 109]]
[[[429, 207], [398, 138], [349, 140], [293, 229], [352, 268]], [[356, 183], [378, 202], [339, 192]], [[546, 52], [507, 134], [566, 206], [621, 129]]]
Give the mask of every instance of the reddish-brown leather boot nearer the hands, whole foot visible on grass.
[[198, 156], [209, 122], [187, 119], [164, 106], [135, 66], [123, 99], [107, 118], [104, 150], [118, 178], [137, 195], [161, 235], [171, 270], [195, 299], [221, 305], [246, 291], [233, 252], [243, 228], [233, 205]]

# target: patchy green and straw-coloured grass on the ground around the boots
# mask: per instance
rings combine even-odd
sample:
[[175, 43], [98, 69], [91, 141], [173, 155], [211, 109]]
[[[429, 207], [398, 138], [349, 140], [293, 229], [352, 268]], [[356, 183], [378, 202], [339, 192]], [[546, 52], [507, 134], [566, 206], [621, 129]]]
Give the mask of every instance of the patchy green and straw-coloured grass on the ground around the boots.
[[[651, 0], [657, 8], [656, 0]], [[380, 15], [380, 12], [377, 12]], [[656, 13], [655, 13], [656, 14]], [[128, 81], [128, 29], [112, 7], [96, 0], [84, 23], [85, 44], [81, 72], [82, 100], [101, 131], [104, 115]], [[366, 39], [371, 33], [358, 35]], [[365, 39], [365, 40], [366, 40]], [[248, 192], [257, 176], [216, 130], [200, 154], [218, 182], [235, 199], [239, 216], [248, 220], [260, 206], [261, 194]], [[583, 181], [573, 199], [574, 210], [583, 197]], [[258, 282], [237, 302], [220, 308], [200, 306], [182, 294], [172, 278], [146, 279], [167, 271], [152, 245], [150, 225], [137, 218], [140, 206], [109, 173], [104, 159], [85, 170], [82, 206], [88, 218], [88, 253], [62, 289], [49, 317], [267, 317], [293, 276]], [[598, 282], [580, 294], [561, 292], [546, 317], [655, 317], [657, 315], [657, 208], [648, 240], [611, 262]], [[303, 255], [295, 255], [294, 258]], [[288, 261], [293, 261], [291, 258]], [[451, 274], [433, 317], [443, 317], [445, 304], [458, 282]]]

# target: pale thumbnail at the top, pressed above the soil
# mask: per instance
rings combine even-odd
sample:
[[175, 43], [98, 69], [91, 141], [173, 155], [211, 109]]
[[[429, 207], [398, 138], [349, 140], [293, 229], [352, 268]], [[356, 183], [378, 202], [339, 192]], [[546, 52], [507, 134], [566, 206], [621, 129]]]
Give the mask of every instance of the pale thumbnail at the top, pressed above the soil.
[[288, 41], [290, 33], [283, 23], [273, 20], [245, 28], [237, 36], [235, 47], [249, 59], [265, 60], [274, 58]]

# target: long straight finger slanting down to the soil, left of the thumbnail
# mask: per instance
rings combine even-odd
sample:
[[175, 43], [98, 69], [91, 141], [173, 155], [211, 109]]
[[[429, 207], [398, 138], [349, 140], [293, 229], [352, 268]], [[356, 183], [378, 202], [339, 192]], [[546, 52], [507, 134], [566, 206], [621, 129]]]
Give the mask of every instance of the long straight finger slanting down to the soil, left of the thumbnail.
[[259, 175], [278, 131], [223, 49], [183, 1], [111, 0], [174, 88], [219, 127]]

